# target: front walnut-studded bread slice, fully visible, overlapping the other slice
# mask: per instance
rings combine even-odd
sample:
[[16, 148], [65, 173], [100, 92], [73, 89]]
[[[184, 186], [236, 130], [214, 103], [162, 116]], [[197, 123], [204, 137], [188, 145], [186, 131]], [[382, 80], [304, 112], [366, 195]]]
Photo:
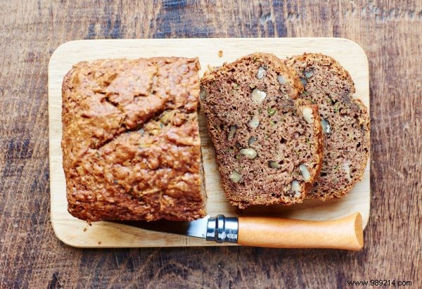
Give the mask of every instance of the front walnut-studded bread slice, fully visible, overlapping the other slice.
[[322, 162], [318, 108], [300, 80], [255, 53], [206, 72], [200, 99], [226, 197], [239, 208], [300, 203]]

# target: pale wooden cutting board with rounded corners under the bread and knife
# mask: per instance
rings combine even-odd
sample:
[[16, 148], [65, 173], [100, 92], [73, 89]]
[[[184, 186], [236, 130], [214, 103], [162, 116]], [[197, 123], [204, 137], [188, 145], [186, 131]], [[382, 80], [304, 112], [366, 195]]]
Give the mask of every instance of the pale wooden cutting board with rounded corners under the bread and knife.
[[[220, 51], [220, 52], [219, 52]], [[222, 51], [222, 55], [221, 55]], [[143, 229], [96, 222], [92, 226], [72, 217], [67, 211], [65, 176], [62, 167], [60, 140], [61, 84], [72, 65], [83, 60], [99, 58], [149, 58], [154, 56], [198, 57], [202, 70], [208, 65], [219, 66], [254, 52], [270, 52], [280, 58], [304, 52], [321, 52], [337, 59], [350, 72], [356, 86], [355, 97], [369, 108], [369, 66], [361, 46], [341, 38], [248, 38], [248, 39], [120, 39], [82, 40], [67, 42], [51, 56], [49, 63], [49, 148], [51, 224], [56, 236], [75, 247], [170, 247], [217, 245], [200, 238], [157, 233]], [[210, 142], [203, 115], [200, 115], [205, 182], [207, 188], [207, 213], [210, 216], [224, 214], [260, 214], [292, 219], [328, 220], [345, 217], [354, 212], [362, 214], [363, 226], [368, 223], [371, 188], [370, 165], [364, 178], [340, 200], [321, 202], [305, 200], [291, 207], [254, 207], [240, 212], [224, 197], [215, 162], [215, 152]], [[222, 244], [227, 245], [227, 244]]]

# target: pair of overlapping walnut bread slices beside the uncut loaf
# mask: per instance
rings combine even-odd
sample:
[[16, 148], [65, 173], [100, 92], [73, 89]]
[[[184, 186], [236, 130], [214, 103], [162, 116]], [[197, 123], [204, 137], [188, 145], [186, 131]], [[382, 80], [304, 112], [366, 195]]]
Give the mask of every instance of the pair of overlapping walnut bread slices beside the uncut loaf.
[[311, 53], [282, 61], [254, 53], [206, 72], [200, 84], [233, 205], [341, 198], [362, 177], [369, 117], [333, 58]]

